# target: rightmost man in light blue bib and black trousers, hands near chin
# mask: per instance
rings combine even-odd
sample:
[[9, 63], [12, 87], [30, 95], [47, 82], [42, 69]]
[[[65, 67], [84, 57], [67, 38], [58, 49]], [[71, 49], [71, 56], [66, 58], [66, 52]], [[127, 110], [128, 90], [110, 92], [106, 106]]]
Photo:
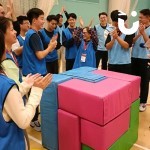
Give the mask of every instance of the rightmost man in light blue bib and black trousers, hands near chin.
[[140, 111], [146, 110], [149, 91], [149, 57], [145, 43], [150, 39], [150, 9], [143, 9], [139, 14], [140, 27], [134, 38], [131, 55], [132, 74], [141, 77]]

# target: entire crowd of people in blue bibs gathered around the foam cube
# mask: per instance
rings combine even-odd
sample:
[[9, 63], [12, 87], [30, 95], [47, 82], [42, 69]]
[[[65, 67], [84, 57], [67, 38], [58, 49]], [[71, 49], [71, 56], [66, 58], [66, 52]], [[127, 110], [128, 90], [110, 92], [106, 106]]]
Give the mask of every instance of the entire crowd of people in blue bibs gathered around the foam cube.
[[[22, 129], [30, 125], [41, 130], [37, 106], [43, 89], [51, 83], [52, 74], [59, 73], [59, 57], [64, 54], [66, 69], [63, 71], [82, 66], [98, 68], [102, 60], [102, 69], [140, 76], [139, 109], [145, 111], [149, 89], [149, 58], [145, 43], [150, 39], [150, 9], [140, 11], [137, 33], [125, 35], [118, 28], [118, 18], [123, 19], [126, 26], [127, 16], [119, 15], [118, 10], [111, 12], [112, 25], [108, 24], [107, 13], [102, 12], [100, 23], [91, 28], [91, 24], [84, 26], [81, 18], [80, 27], [77, 27], [76, 14], [68, 14], [63, 9], [67, 18], [64, 24], [62, 14], [49, 15], [43, 28], [44, 12], [32, 8], [27, 16], [14, 20], [19, 24], [18, 30], [18, 26], [14, 24], [13, 27], [14, 22], [5, 17], [2, 8], [0, 5], [2, 149], [26, 149], [27, 139], [24, 139]], [[29, 95], [28, 101], [25, 94]]]

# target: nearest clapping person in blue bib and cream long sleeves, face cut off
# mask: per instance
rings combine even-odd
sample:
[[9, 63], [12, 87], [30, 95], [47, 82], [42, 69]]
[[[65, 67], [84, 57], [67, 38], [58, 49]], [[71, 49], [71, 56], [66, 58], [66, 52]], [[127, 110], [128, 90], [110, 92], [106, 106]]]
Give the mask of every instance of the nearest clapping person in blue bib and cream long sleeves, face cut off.
[[4, 34], [0, 31], [0, 145], [1, 149], [28, 149], [22, 129], [30, 125], [35, 109], [40, 103], [43, 89], [51, 82], [52, 76], [34, 78], [29, 100], [24, 106], [17, 84], [9, 79], [1, 65], [5, 59]]

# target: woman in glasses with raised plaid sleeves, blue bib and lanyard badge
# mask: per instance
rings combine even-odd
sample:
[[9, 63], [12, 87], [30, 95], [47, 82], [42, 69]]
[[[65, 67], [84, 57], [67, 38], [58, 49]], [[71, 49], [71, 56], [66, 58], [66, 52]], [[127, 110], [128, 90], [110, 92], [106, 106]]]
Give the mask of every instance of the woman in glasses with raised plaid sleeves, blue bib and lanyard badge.
[[94, 29], [89, 27], [79, 28], [74, 33], [74, 40], [78, 51], [73, 68], [96, 67], [95, 51], [97, 50], [98, 38]]

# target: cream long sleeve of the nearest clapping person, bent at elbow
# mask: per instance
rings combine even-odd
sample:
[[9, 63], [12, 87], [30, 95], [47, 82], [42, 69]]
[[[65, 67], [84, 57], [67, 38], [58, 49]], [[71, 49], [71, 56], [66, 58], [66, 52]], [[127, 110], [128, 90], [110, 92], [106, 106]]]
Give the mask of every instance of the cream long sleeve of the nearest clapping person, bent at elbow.
[[34, 117], [35, 109], [40, 103], [42, 93], [43, 90], [41, 88], [32, 87], [29, 100], [26, 106], [24, 106], [21, 94], [16, 86], [13, 86], [4, 103], [5, 113], [7, 113], [21, 129], [26, 129]]

